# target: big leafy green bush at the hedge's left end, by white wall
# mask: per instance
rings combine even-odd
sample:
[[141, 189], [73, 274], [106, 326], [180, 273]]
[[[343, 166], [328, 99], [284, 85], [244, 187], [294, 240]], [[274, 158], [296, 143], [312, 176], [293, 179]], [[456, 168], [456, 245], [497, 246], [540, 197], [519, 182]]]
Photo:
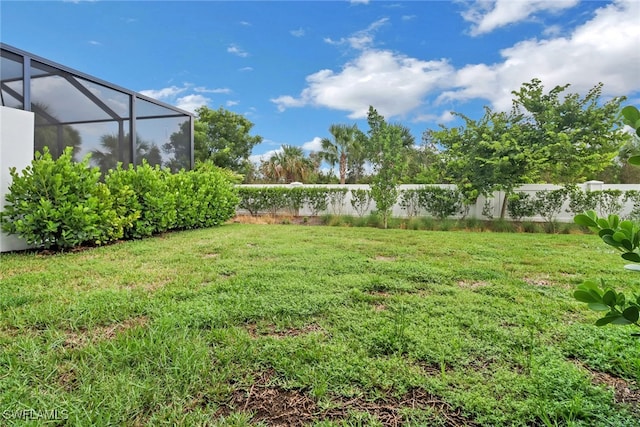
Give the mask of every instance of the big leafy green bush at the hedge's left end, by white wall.
[[28, 244], [54, 249], [103, 244], [119, 239], [124, 221], [114, 209], [109, 189], [100, 182], [100, 169], [89, 156], [73, 161], [69, 147], [53, 160], [48, 148], [21, 173], [11, 168], [2, 229]]

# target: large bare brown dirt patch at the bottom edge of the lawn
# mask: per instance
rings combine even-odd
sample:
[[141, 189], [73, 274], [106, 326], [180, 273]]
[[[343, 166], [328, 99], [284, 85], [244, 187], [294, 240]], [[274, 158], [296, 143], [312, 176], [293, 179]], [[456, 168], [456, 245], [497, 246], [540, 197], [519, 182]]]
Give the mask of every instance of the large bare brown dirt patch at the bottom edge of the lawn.
[[425, 410], [433, 421], [445, 426], [476, 426], [460, 410], [421, 389], [412, 389], [400, 398], [389, 397], [369, 401], [363, 397], [336, 398], [328, 409], [320, 408], [304, 392], [272, 385], [273, 373], [260, 375], [249, 388], [233, 392], [228, 402], [221, 405], [216, 416], [228, 416], [234, 412], [253, 414], [251, 422], [263, 422], [268, 426], [304, 426], [319, 421], [345, 421], [356, 412], [375, 417], [384, 426], [401, 426], [408, 421], [405, 410]]

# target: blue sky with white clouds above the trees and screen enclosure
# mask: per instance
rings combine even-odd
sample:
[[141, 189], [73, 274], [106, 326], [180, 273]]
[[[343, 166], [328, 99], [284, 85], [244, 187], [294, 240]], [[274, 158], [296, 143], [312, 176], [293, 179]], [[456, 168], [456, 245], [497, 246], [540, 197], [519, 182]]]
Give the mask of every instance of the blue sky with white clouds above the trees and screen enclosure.
[[245, 115], [264, 142], [319, 148], [373, 105], [424, 130], [509, 109], [539, 78], [640, 103], [640, 1], [7, 1], [0, 40], [193, 111]]

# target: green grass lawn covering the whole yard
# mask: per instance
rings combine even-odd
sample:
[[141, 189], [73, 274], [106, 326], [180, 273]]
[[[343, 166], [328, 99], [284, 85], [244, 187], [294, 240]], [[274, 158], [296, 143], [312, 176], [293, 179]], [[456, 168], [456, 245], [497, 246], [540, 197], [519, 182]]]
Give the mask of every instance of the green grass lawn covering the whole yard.
[[229, 224], [0, 257], [0, 424], [640, 425], [596, 236]]

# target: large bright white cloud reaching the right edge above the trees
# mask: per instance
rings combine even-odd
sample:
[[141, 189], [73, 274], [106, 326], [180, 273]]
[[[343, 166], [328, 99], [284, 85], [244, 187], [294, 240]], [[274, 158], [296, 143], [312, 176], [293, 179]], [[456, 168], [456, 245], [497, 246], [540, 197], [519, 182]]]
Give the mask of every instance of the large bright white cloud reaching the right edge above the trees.
[[502, 50], [503, 62], [467, 65], [452, 76], [453, 87], [439, 100], [483, 98], [494, 108], [507, 110], [511, 91], [539, 78], [545, 88], [571, 84], [574, 93], [586, 93], [604, 83], [603, 96], [640, 90], [640, 2], [620, 0], [597, 10], [590, 21], [567, 37], [525, 40]]

